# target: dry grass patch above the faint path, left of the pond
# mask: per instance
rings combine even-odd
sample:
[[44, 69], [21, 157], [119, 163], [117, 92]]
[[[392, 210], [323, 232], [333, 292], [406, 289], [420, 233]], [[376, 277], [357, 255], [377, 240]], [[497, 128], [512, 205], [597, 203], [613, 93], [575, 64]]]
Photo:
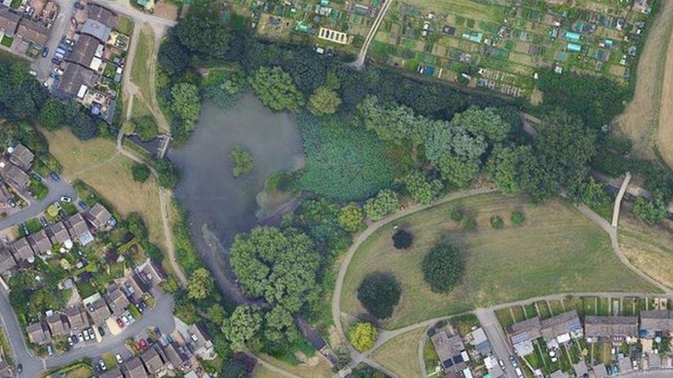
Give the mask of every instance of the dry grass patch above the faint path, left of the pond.
[[45, 136], [49, 140], [49, 152], [63, 166], [63, 177], [66, 178], [72, 178], [83, 170], [105, 162], [115, 151], [114, 143], [110, 140], [79, 140], [65, 128], [56, 132], [45, 132]]

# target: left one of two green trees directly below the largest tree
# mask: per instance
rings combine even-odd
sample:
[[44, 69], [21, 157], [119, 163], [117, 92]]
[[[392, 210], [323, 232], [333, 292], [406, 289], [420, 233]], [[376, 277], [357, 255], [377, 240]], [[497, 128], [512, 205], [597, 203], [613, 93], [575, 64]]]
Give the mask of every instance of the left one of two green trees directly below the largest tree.
[[257, 306], [243, 305], [234, 309], [230, 317], [222, 322], [222, 333], [230, 342], [232, 350], [259, 350], [259, 333], [262, 327], [262, 315]]

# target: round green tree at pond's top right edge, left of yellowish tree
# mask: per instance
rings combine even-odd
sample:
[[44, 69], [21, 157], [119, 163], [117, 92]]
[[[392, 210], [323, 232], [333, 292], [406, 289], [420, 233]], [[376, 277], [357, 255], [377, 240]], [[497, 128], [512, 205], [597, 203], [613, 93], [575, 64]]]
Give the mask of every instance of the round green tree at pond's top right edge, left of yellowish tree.
[[271, 109], [288, 109], [297, 113], [304, 105], [303, 94], [294, 85], [292, 77], [281, 67], [261, 67], [250, 76], [249, 81], [252, 92]]

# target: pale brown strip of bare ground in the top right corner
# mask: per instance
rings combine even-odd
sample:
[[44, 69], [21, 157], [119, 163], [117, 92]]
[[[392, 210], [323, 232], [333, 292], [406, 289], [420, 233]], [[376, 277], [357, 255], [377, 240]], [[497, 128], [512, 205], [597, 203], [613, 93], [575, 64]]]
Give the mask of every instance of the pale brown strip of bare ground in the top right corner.
[[[616, 118], [616, 134], [633, 140], [634, 152], [643, 158], [654, 157], [657, 143], [662, 154], [668, 148], [669, 164], [673, 163], [673, 1], [663, 1], [641, 54], [636, 76], [636, 92], [623, 114]], [[666, 54], [668, 51], [668, 56]], [[666, 67], [666, 69], [665, 69]], [[666, 75], [664, 75], [666, 74]], [[667, 84], [663, 83], [667, 76]], [[661, 117], [659, 108], [661, 107]], [[667, 107], [667, 111], [664, 109]], [[667, 114], [667, 121], [663, 119]], [[659, 138], [657, 125], [659, 124]], [[662, 134], [665, 135], [662, 142]]]

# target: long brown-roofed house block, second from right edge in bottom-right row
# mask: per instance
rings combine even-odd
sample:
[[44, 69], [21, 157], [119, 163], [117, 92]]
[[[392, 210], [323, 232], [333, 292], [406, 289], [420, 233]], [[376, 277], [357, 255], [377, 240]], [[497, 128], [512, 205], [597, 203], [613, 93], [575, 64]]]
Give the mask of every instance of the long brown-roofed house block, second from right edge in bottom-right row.
[[587, 316], [584, 319], [584, 335], [589, 342], [634, 342], [638, 339], [638, 317]]

